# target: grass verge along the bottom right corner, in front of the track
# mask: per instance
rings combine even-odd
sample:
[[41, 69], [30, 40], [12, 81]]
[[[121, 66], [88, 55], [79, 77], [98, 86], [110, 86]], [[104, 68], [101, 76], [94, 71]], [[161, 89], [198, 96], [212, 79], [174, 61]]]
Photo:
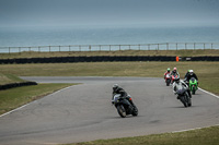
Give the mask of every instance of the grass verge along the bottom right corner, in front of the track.
[[219, 126], [180, 133], [152, 134], [137, 137], [97, 140], [68, 145], [218, 145]]

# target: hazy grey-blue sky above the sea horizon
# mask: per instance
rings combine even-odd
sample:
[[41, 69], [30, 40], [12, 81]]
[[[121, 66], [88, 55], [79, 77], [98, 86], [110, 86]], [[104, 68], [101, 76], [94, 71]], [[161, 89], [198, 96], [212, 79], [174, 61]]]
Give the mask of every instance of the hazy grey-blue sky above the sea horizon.
[[219, 0], [0, 0], [0, 26], [219, 26]]

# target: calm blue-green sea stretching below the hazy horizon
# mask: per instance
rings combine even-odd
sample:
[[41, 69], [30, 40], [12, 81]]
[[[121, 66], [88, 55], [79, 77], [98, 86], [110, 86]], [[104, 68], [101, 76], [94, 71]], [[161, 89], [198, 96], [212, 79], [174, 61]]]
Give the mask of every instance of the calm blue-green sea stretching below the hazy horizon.
[[0, 51], [7, 47], [162, 43], [219, 43], [219, 26], [0, 27]]

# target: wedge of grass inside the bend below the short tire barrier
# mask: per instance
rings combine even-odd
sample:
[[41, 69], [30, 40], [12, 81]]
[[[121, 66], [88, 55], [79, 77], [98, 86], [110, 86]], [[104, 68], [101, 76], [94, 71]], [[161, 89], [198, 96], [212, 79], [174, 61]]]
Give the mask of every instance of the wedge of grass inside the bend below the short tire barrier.
[[0, 90], [0, 114], [72, 84], [38, 84]]

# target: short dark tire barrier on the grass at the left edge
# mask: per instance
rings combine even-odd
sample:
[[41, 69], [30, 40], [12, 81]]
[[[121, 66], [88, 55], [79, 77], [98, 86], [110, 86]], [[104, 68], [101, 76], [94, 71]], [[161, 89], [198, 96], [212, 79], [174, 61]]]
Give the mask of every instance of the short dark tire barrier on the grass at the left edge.
[[0, 85], [0, 90], [20, 87], [20, 86], [30, 86], [30, 85], [37, 85], [36, 82], [21, 82], [21, 83], [11, 83], [5, 85]]

